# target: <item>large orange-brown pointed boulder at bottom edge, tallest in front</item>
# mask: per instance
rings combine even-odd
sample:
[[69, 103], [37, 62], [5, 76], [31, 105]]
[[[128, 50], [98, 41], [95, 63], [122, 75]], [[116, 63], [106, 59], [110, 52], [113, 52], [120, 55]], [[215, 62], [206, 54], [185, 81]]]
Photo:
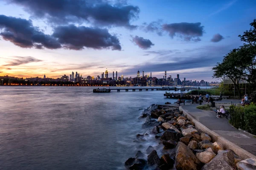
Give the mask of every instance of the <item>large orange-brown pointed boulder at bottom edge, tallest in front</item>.
[[182, 142], [178, 142], [175, 148], [175, 167], [177, 170], [200, 170], [201, 162], [193, 152]]

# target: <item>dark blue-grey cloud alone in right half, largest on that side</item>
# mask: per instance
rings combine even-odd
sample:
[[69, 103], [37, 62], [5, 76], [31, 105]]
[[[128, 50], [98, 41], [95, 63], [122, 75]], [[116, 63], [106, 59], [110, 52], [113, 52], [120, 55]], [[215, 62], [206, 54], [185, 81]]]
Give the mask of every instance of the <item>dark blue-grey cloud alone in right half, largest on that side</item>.
[[201, 23], [172, 23], [163, 24], [163, 30], [172, 38], [179, 36], [185, 41], [198, 41], [198, 37], [203, 36], [204, 26], [201, 26]]

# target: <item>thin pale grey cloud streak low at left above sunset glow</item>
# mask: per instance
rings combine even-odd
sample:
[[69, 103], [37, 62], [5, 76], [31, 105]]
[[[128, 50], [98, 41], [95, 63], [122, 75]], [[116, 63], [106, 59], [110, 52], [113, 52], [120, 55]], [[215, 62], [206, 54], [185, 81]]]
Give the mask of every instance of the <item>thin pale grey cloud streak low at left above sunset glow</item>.
[[20, 56], [14, 56], [11, 57], [11, 59], [9, 59], [9, 61], [7, 61], [8, 64], [3, 65], [3, 66], [17, 66], [17, 65], [22, 65], [22, 64], [27, 64], [30, 62], [40, 62], [42, 61], [41, 59], [36, 59], [34, 57], [20, 57]]

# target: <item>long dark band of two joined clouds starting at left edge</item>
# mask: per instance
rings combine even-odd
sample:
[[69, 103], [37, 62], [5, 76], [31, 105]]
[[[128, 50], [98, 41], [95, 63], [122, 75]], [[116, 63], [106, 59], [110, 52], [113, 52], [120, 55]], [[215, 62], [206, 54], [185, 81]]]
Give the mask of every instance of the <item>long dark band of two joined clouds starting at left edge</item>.
[[89, 28], [74, 25], [58, 26], [52, 35], [44, 34], [32, 25], [31, 20], [0, 15], [0, 36], [4, 40], [22, 48], [67, 48], [81, 50], [93, 49], [121, 50], [120, 42], [107, 29]]

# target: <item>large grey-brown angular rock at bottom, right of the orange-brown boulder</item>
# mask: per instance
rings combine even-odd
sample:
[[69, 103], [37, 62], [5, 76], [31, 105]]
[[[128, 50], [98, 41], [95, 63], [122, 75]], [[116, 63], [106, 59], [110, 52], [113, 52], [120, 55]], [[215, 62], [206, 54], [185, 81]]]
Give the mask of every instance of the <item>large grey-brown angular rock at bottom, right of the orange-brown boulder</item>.
[[232, 150], [219, 150], [218, 154], [202, 170], [236, 170]]

